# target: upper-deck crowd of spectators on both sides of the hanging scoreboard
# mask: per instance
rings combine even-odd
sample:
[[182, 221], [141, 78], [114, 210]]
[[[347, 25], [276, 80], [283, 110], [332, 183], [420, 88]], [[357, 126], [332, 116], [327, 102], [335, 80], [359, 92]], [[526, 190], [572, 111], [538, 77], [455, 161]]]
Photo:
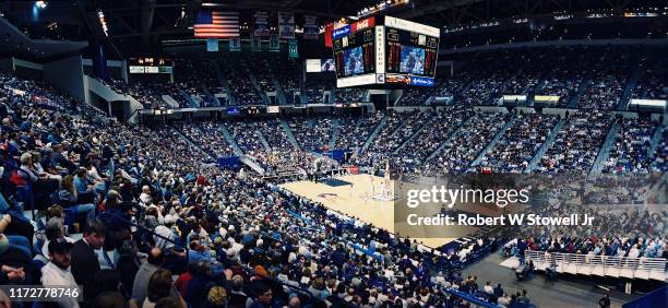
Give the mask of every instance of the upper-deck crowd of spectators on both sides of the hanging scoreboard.
[[[660, 51], [652, 48], [570, 46], [556, 51], [545, 48], [497, 50], [477, 52], [460, 62], [463, 66], [457, 67], [452, 76], [438, 78], [434, 87], [405, 88], [396, 105], [442, 103], [434, 97], [453, 97], [449, 104], [464, 106], [497, 105], [502, 95], [527, 95], [530, 103], [534, 95], [541, 95], [559, 96], [557, 102], [538, 102], [550, 107], [610, 110], [625, 103], [620, 102], [621, 95], [639, 66], [642, 73], [631, 90], [631, 97], [663, 99], [668, 93], [663, 82], [665, 60]], [[164, 94], [174, 98], [178, 107], [216, 106], [226, 91], [215, 66], [213, 60], [179, 59], [174, 83], [142, 80], [131, 84], [115, 82], [110, 86], [138, 96], [138, 100], [151, 108], [177, 107], [166, 104], [162, 98]], [[365, 90], [337, 88], [335, 74], [329, 72], [308, 73], [302, 85], [300, 64], [274, 55], [230, 55], [224, 61], [218, 60], [217, 66], [229, 85], [231, 93], [228, 95], [236, 98], [238, 105], [266, 104], [265, 93], [276, 91], [276, 82], [288, 105], [365, 100]], [[584, 92], [577, 96], [581, 87]], [[513, 102], [506, 103], [512, 105]]]

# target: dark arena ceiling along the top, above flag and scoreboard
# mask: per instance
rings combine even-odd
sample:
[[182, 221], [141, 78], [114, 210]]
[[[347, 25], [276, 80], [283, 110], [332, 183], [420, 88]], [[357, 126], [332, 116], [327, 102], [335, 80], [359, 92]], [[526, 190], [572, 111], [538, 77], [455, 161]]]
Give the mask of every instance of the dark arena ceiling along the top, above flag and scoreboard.
[[[396, 1], [396, 0], [391, 0]], [[192, 20], [202, 5], [214, 3], [241, 12], [241, 23], [251, 24], [255, 10], [290, 11], [313, 14], [321, 23], [357, 15], [380, 0], [51, 0], [35, 10], [35, 1], [2, 1], [0, 13], [32, 37], [53, 32], [62, 39], [96, 40], [109, 45], [119, 57], [155, 51], [162, 39], [191, 38]], [[641, 3], [642, 2], [642, 3]], [[492, 21], [514, 16], [534, 16], [554, 12], [586, 10], [621, 11], [631, 8], [665, 7], [665, 0], [408, 0], [383, 12], [433, 26]], [[107, 32], [98, 14], [105, 15]], [[43, 35], [46, 36], [46, 35]], [[41, 38], [41, 37], [39, 37]]]

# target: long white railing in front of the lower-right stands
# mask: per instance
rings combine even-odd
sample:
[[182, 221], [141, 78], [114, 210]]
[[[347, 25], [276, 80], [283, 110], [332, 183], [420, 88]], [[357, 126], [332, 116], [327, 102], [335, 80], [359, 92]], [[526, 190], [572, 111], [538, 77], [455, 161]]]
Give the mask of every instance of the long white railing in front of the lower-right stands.
[[524, 252], [525, 262], [532, 260], [536, 270], [554, 268], [559, 273], [667, 281], [664, 258], [629, 258], [588, 256], [561, 252]]

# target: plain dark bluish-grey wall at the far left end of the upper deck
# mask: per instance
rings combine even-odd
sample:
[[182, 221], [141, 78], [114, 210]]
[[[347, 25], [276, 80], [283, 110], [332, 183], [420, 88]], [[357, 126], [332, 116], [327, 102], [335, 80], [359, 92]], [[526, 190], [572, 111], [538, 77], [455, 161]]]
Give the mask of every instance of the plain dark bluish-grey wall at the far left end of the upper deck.
[[45, 63], [44, 80], [73, 97], [86, 99], [81, 56]]

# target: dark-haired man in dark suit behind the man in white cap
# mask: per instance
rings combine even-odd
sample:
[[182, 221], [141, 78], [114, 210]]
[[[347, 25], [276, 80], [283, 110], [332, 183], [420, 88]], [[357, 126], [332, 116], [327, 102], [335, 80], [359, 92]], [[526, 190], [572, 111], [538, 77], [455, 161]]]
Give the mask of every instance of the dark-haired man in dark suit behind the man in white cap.
[[86, 285], [94, 284], [93, 276], [99, 272], [96, 249], [100, 249], [105, 242], [107, 227], [105, 223], [95, 218], [90, 221], [84, 228], [83, 238], [74, 242], [72, 247], [72, 275], [76, 284], [84, 285], [84, 298], [86, 297]]

